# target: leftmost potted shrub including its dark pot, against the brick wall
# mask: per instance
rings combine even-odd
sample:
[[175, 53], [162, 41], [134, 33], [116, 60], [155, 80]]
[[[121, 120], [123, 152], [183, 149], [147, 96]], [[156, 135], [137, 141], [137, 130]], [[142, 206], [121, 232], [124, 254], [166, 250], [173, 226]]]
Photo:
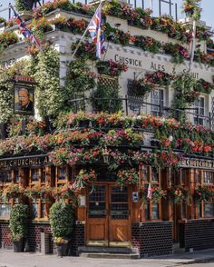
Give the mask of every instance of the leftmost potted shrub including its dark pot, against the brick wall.
[[24, 252], [24, 238], [27, 233], [29, 208], [26, 204], [15, 204], [10, 213], [10, 231], [14, 242], [14, 252]]

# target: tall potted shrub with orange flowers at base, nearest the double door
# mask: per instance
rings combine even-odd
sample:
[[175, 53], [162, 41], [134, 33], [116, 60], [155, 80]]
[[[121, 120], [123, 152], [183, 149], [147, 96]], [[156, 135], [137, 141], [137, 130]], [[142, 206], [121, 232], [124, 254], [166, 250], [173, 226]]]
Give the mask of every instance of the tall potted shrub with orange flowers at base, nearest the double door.
[[73, 232], [73, 205], [63, 201], [53, 203], [50, 209], [50, 224], [58, 256], [68, 255]]

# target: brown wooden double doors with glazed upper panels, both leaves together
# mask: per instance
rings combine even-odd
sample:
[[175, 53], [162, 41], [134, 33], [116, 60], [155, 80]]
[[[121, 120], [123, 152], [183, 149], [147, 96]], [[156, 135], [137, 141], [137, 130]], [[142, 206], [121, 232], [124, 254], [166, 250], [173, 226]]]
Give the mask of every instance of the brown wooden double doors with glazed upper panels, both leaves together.
[[87, 245], [131, 245], [128, 186], [107, 183], [90, 186], [87, 210]]

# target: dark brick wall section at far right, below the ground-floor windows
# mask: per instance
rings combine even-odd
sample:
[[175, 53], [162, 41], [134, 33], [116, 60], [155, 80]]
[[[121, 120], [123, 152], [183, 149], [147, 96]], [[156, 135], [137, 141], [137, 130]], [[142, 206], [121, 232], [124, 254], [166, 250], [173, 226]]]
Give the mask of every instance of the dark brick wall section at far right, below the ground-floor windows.
[[180, 247], [187, 251], [214, 248], [214, 220], [180, 223]]

